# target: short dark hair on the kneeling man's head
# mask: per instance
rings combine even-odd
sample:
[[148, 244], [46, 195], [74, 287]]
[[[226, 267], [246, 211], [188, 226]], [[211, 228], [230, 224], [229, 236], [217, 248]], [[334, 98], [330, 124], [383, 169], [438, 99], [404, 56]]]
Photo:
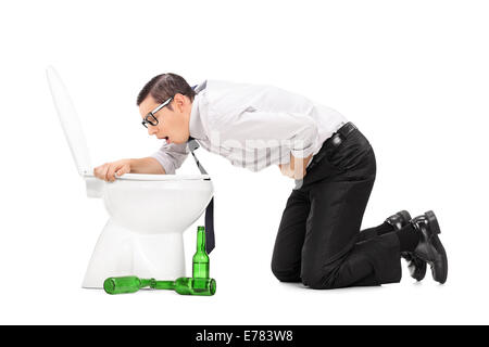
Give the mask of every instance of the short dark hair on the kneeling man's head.
[[[172, 73], [161, 74], [154, 76], [146, 83], [139, 92], [136, 103], [139, 106], [148, 95], [153, 97], [158, 103], [163, 103], [176, 93], [187, 95], [190, 101], [193, 101], [193, 97], [196, 95], [196, 92], [189, 83], [187, 83], [184, 77]], [[171, 104], [168, 104], [167, 107], [173, 111]]]

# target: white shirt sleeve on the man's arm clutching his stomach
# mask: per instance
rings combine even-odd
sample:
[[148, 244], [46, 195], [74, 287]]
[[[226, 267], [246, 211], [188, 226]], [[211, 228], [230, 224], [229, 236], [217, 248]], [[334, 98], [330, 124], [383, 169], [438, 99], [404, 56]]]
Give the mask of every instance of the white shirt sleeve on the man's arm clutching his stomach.
[[314, 152], [318, 141], [316, 121], [299, 113], [261, 112], [248, 108], [230, 117], [215, 117], [212, 125], [221, 144], [229, 147], [290, 147], [294, 157]]

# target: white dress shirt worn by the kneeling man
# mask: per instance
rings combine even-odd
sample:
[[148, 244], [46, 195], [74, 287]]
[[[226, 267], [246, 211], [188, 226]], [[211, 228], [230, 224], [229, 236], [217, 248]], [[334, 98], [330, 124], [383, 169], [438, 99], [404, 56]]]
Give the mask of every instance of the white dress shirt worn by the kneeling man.
[[[196, 89], [190, 136], [233, 165], [259, 171], [316, 154], [348, 120], [337, 111], [273, 86], [205, 80]], [[165, 141], [165, 140], [163, 140]], [[153, 153], [166, 174], [188, 156], [187, 143]]]

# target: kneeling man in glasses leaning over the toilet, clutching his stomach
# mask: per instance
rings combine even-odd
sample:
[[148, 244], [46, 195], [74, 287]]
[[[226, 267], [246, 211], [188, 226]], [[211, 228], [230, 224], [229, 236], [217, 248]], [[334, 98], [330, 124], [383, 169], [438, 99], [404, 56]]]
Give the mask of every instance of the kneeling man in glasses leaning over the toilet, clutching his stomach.
[[312, 288], [380, 285], [401, 280], [401, 257], [421, 281], [447, 280], [448, 261], [432, 211], [408, 211], [360, 231], [374, 184], [374, 151], [338, 112], [272, 86], [206, 80], [193, 90], [163, 74], [140, 91], [137, 105], [148, 133], [165, 140], [149, 157], [106, 163], [106, 181], [135, 174], [175, 174], [193, 138], [233, 165], [259, 171], [278, 165], [296, 180], [278, 228], [272, 271], [283, 282]]

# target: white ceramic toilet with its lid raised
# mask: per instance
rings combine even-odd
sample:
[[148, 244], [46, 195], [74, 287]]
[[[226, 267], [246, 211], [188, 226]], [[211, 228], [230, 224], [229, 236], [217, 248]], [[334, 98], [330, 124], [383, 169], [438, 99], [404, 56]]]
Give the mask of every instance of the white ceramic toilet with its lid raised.
[[159, 280], [185, 277], [183, 234], [213, 196], [209, 176], [126, 174], [115, 182], [95, 178], [71, 98], [53, 67], [48, 67], [47, 75], [87, 195], [101, 197], [110, 215], [88, 264], [83, 287], [102, 288], [109, 277]]

